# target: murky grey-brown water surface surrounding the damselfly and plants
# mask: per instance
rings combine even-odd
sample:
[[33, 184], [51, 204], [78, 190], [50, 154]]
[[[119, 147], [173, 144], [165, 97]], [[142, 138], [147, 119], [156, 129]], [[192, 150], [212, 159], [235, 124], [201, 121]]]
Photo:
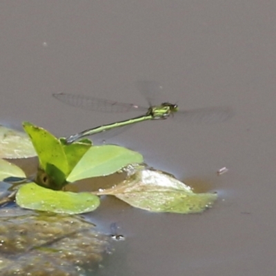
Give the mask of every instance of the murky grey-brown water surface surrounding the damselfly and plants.
[[[70, 108], [53, 92], [146, 104], [159, 81], [180, 108], [232, 106], [223, 124], [150, 121], [110, 142], [220, 199], [202, 215], [150, 214], [106, 199], [91, 215], [126, 241], [102, 275], [273, 275], [276, 81], [273, 1], [1, 3], [0, 118], [70, 135], [128, 114]], [[133, 84], [133, 85], [132, 85]], [[125, 87], [130, 88], [126, 90]], [[217, 176], [217, 170], [229, 169]], [[195, 181], [197, 182], [197, 181]], [[204, 187], [203, 187], [204, 188]]]

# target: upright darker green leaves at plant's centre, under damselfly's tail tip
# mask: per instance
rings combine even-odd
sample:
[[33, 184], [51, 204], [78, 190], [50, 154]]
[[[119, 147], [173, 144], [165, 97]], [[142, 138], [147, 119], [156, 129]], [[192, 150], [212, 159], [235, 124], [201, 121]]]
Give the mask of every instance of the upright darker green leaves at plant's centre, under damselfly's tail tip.
[[[60, 189], [66, 184], [66, 177], [90, 148], [91, 144], [65, 145], [62, 139], [57, 139], [47, 130], [34, 126], [29, 122], [24, 122], [23, 128], [30, 136], [37, 151], [40, 168], [46, 172], [46, 177], [41, 178], [39, 175], [38, 183], [45, 186], [47, 182], [51, 184], [50, 188]], [[46, 181], [39, 181], [40, 179], [46, 179]]]

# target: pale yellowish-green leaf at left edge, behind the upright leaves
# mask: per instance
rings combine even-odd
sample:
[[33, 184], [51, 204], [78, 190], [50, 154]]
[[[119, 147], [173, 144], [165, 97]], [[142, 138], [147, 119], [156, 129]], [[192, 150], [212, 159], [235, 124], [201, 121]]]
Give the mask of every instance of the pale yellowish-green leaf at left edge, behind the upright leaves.
[[0, 158], [28, 158], [36, 155], [26, 133], [0, 125]]

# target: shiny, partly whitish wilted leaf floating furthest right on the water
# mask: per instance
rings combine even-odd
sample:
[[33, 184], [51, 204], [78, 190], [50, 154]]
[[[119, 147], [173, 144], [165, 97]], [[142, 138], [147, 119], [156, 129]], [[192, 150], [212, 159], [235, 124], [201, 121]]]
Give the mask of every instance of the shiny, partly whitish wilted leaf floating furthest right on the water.
[[97, 195], [115, 195], [133, 207], [151, 212], [201, 213], [217, 199], [214, 193], [193, 193], [189, 186], [164, 172], [138, 168], [128, 178]]

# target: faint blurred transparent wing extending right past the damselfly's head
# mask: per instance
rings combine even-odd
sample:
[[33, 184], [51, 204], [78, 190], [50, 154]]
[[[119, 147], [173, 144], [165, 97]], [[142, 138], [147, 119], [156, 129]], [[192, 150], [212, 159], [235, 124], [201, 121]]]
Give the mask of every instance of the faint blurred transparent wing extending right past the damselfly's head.
[[178, 111], [174, 117], [177, 121], [195, 124], [213, 124], [226, 121], [233, 117], [234, 112], [228, 106], [198, 108], [194, 110]]

